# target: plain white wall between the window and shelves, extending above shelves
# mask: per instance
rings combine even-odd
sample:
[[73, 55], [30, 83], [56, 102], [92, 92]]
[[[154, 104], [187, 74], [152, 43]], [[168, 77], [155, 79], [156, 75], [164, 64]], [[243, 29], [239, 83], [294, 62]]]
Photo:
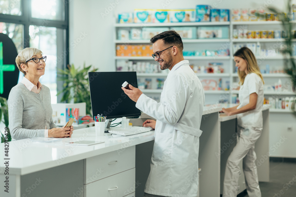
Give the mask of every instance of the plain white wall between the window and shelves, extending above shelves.
[[[115, 4], [117, 2], [118, 4]], [[259, 8], [277, 7], [284, 10], [287, 0], [73, 0], [70, 1], [70, 64], [82, 66], [92, 64], [99, 71], [115, 71], [114, 23], [120, 12], [133, 12], [135, 8], [195, 8], [198, 4], [208, 4], [216, 8]], [[113, 4], [111, 12], [102, 17]], [[86, 33], [85, 37], [83, 33]], [[82, 39], [80, 39], [82, 38]]]

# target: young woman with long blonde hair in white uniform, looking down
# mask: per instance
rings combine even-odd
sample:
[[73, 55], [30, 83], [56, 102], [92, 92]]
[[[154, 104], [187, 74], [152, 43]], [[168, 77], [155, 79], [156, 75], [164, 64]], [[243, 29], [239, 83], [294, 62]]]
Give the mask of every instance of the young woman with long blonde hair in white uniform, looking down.
[[256, 58], [247, 47], [242, 47], [234, 53], [234, 61], [238, 67], [239, 102], [232, 108], [223, 108], [227, 115], [237, 115], [239, 140], [232, 150], [224, 176], [223, 197], [237, 196], [239, 180], [239, 163], [243, 160], [243, 170], [249, 197], [261, 197], [255, 165], [255, 142], [261, 135], [263, 118], [263, 77]]

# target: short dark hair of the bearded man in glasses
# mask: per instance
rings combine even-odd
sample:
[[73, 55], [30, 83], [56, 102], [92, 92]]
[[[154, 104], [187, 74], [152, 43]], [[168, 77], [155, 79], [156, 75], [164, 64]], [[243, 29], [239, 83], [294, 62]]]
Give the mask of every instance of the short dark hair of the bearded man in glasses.
[[175, 30], [164, 31], [162, 33], [159, 33], [153, 36], [150, 39], [150, 43], [153, 44], [160, 39], [163, 40], [163, 43], [165, 45], [173, 44], [177, 46], [179, 49], [181, 49], [181, 52], [183, 51], [183, 42], [182, 42], [181, 36]]

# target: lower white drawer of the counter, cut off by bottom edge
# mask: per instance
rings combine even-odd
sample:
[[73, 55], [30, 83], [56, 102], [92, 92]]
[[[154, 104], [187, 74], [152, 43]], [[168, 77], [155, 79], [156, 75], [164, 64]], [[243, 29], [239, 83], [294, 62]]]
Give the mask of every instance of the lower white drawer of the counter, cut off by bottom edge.
[[85, 185], [84, 197], [134, 196], [136, 168]]

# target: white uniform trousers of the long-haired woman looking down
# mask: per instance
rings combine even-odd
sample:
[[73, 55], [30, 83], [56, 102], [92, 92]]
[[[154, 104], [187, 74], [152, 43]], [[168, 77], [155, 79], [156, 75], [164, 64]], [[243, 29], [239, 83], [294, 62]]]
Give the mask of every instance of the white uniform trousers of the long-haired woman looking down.
[[236, 197], [239, 180], [239, 163], [243, 160], [243, 171], [249, 197], [261, 197], [255, 164], [255, 142], [261, 135], [262, 128], [238, 127], [239, 139], [230, 153], [225, 169], [223, 197]]

